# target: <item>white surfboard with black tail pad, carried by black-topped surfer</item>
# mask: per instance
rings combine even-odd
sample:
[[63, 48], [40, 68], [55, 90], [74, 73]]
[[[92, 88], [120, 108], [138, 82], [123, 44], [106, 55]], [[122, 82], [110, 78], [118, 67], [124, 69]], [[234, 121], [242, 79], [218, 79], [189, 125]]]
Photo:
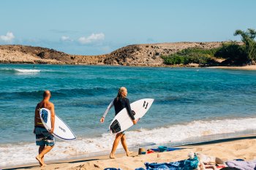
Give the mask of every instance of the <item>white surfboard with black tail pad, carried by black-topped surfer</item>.
[[[130, 104], [131, 109], [135, 114], [135, 120], [140, 120], [140, 118], [143, 117], [146, 112], [148, 112], [148, 109], [153, 104], [153, 101], [153, 98], [143, 98]], [[132, 118], [129, 117], [127, 109], [124, 108], [118, 112], [116, 117], [113, 118], [108, 129], [110, 130], [110, 133], [116, 134], [127, 130], [127, 128], [130, 128], [132, 125]]]

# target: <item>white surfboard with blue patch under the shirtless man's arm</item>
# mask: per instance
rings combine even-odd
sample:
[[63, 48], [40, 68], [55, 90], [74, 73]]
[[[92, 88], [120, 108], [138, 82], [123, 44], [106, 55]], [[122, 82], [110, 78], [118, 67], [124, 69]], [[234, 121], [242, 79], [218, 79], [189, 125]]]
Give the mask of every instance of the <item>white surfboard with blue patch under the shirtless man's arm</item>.
[[[40, 118], [42, 120], [42, 124], [45, 128], [50, 131], [51, 129], [51, 120], [50, 120], [50, 110], [46, 108], [39, 109]], [[56, 136], [62, 140], [75, 140], [75, 134], [71, 131], [68, 125], [64, 123], [57, 115], [55, 115], [55, 124], [53, 136]]]

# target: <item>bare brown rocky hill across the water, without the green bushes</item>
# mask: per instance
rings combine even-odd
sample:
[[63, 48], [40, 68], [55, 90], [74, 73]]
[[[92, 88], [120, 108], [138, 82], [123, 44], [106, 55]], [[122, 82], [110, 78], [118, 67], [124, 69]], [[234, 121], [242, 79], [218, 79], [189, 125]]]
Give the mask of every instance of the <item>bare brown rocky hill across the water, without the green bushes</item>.
[[105, 55], [69, 55], [44, 47], [0, 45], [0, 63], [109, 64], [124, 66], [164, 66], [160, 55], [188, 47], [219, 47], [222, 42], [175, 42], [128, 45]]

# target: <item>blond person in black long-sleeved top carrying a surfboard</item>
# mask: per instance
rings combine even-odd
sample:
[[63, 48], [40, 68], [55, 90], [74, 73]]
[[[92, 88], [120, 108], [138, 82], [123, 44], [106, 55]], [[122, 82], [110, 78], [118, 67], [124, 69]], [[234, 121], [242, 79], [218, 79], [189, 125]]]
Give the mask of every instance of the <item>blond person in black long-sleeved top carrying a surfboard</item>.
[[[113, 101], [111, 101], [110, 105], [108, 106], [108, 108], [106, 109], [104, 115], [102, 116], [102, 118], [100, 119], [100, 122], [103, 123], [105, 120], [105, 116], [108, 114], [108, 111], [110, 110], [111, 107], [115, 107], [115, 112], [116, 115], [118, 114], [118, 112], [120, 112], [122, 109], [127, 108], [127, 112], [129, 114], [129, 117], [132, 118], [132, 123], [135, 125], [137, 123], [137, 121], [135, 120], [135, 117], [132, 114], [132, 109], [131, 106], [129, 105], [129, 99], [126, 98], [127, 97], [127, 88], [121, 87], [118, 90], [118, 94], [116, 96], [116, 98], [113, 99]], [[128, 150], [127, 147], [127, 139], [126, 136], [124, 134], [124, 131], [121, 133], [116, 134], [116, 139], [113, 142], [113, 147], [110, 153], [110, 158], [114, 159], [115, 157], [115, 152], [116, 152], [116, 148], [118, 147], [118, 144], [121, 140], [121, 144], [124, 147], [125, 152], [127, 152], [127, 156], [129, 156], [130, 152]]]

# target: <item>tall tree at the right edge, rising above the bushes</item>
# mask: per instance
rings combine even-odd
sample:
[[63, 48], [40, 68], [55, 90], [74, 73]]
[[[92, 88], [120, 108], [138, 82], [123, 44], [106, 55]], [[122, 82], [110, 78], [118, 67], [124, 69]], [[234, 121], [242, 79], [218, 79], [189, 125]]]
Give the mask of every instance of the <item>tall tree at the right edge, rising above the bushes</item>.
[[241, 35], [241, 40], [244, 42], [247, 63], [251, 64], [256, 61], [256, 31], [252, 28], [248, 28], [247, 31], [236, 30], [234, 36]]

